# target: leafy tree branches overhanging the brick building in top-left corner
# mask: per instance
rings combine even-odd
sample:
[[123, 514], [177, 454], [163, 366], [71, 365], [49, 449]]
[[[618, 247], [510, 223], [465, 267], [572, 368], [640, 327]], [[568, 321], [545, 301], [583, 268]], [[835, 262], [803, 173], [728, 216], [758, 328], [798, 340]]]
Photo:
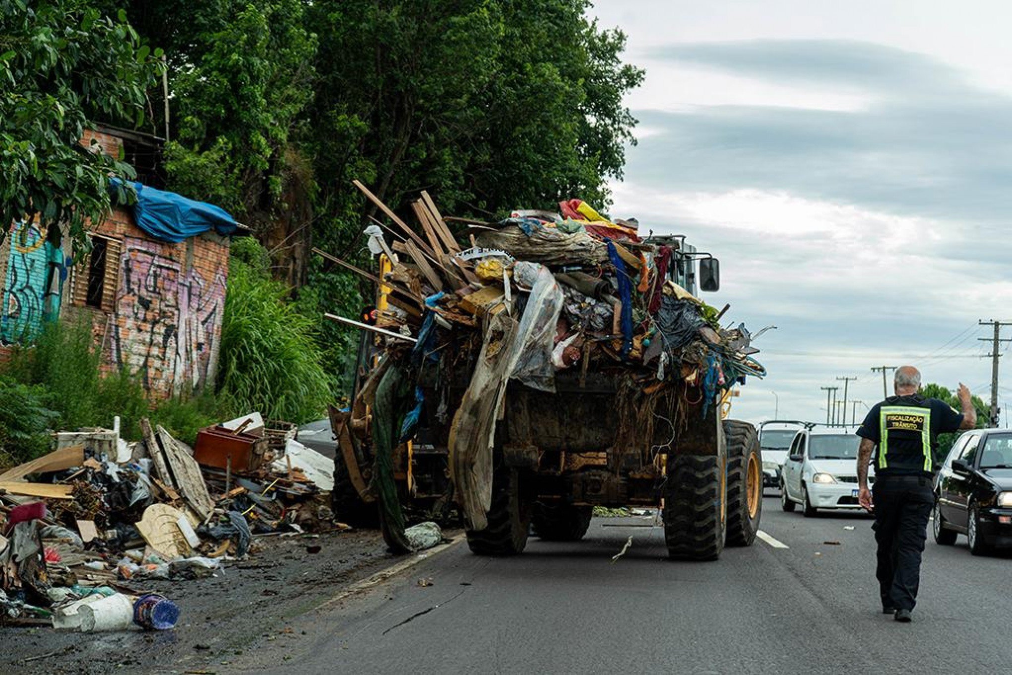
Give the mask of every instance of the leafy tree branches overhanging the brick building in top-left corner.
[[[110, 175], [132, 178], [118, 157], [80, 141], [95, 120], [140, 124], [161, 54], [142, 46], [125, 14], [82, 0], [0, 0], [0, 237], [26, 218], [85, 225], [111, 203]], [[123, 189], [119, 188], [123, 197]]]

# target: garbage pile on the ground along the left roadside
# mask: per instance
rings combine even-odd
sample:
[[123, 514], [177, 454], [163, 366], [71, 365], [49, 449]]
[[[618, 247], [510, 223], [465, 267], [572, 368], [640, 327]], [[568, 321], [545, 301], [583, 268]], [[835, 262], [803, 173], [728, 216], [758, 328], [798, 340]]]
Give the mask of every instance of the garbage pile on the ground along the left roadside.
[[141, 427], [137, 443], [118, 420], [58, 433], [54, 451], [0, 475], [0, 624], [170, 628], [180, 608], [134, 588], [212, 576], [255, 553], [257, 534], [333, 526], [331, 460], [294, 425], [254, 413], [201, 430], [192, 449]]

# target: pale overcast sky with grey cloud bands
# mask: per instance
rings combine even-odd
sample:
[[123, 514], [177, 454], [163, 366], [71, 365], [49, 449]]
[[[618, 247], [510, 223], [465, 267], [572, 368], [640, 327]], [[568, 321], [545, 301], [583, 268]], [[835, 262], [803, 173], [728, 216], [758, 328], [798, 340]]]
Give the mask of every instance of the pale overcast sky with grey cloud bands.
[[[872, 365], [990, 401], [1012, 320], [1012, 5], [1001, 0], [599, 0], [647, 70], [615, 217], [722, 263], [727, 319], [769, 375], [735, 417], [826, 419], [882, 398]], [[1004, 329], [1012, 337], [1012, 327]], [[1012, 352], [1009, 352], [1012, 355]], [[999, 398], [1012, 405], [1012, 358]], [[892, 393], [892, 375], [890, 375]], [[771, 392], [776, 393], [776, 397]], [[852, 406], [848, 405], [848, 420]], [[858, 417], [864, 409], [857, 406]], [[1004, 421], [1003, 421], [1004, 425]]]

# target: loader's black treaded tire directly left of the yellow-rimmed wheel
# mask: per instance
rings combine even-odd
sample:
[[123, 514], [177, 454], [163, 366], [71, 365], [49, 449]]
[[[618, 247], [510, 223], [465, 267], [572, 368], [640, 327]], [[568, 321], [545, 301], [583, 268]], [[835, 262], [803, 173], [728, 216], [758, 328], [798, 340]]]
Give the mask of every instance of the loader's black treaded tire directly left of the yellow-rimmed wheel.
[[664, 540], [677, 560], [715, 561], [727, 534], [727, 455], [668, 455]]

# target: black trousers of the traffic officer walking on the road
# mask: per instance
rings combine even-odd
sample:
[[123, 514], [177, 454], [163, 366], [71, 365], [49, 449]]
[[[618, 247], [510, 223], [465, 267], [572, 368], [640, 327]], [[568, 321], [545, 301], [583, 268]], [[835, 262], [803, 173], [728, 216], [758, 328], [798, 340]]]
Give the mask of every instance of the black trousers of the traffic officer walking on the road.
[[875, 578], [883, 607], [913, 609], [921, 581], [921, 554], [934, 506], [931, 479], [875, 478], [872, 486], [878, 543]]

